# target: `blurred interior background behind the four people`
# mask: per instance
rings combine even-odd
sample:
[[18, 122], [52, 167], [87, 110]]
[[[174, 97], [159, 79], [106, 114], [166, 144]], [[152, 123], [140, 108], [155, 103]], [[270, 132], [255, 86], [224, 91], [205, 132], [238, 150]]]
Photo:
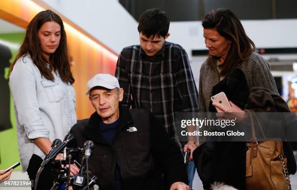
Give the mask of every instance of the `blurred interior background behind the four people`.
[[[87, 81], [97, 73], [114, 75], [120, 51], [139, 44], [138, 17], [155, 7], [169, 15], [167, 41], [186, 50], [197, 86], [200, 66], [208, 56], [201, 19], [212, 9], [230, 8], [241, 19], [257, 52], [270, 63], [282, 98], [297, 112], [296, 0], [0, 0], [0, 169], [19, 160], [7, 73], [30, 20], [46, 9], [62, 17], [75, 78], [77, 115], [84, 119], [93, 113], [85, 96]], [[16, 168], [11, 179], [27, 179], [27, 173], [20, 170]], [[297, 189], [297, 177], [291, 178], [292, 189]], [[193, 189], [202, 189], [197, 173]]]

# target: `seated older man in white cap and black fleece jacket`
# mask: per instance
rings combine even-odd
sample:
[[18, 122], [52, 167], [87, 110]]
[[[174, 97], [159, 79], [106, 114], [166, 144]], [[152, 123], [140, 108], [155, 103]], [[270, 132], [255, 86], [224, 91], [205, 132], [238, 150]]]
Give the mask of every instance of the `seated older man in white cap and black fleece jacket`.
[[165, 189], [189, 190], [180, 150], [155, 117], [120, 106], [124, 90], [110, 74], [95, 75], [87, 86], [96, 112], [70, 132], [78, 147], [94, 142], [89, 170], [100, 190], [158, 190], [161, 173], [168, 176]]

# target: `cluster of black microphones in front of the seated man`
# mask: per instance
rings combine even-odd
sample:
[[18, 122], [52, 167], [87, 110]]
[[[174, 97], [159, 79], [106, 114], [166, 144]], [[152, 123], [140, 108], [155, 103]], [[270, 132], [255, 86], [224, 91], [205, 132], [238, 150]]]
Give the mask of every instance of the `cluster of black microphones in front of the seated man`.
[[[72, 186], [73, 190], [86, 190], [89, 187], [93, 187], [97, 189], [98, 187], [96, 182], [98, 178], [93, 175], [89, 178], [88, 171], [88, 159], [92, 154], [92, 148], [94, 147], [94, 142], [91, 140], [87, 140], [84, 143], [83, 148], [66, 148], [67, 145], [74, 139], [73, 134], [66, 135], [64, 141], [62, 142], [60, 139], [55, 139], [52, 141], [51, 149], [49, 154], [45, 157], [43, 162], [41, 163], [40, 169], [36, 174], [36, 181], [34, 187], [37, 187], [38, 178], [43, 168], [47, 164], [51, 164], [52, 173], [54, 175], [54, 186], [51, 190], [66, 190], [69, 186]], [[56, 156], [60, 153], [64, 153], [67, 155], [68, 160], [55, 160]], [[71, 160], [73, 155], [82, 156], [82, 162], [79, 164], [76, 160]], [[71, 164], [76, 163], [77, 166], [80, 167], [79, 172], [76, 175], [70, 175], [70, 168], [67, 168], [66, 165], [71, 167]], [[61, 165], [62, 164], [62, 165]], [[95, 186], [94, 186], [95, 185]]]

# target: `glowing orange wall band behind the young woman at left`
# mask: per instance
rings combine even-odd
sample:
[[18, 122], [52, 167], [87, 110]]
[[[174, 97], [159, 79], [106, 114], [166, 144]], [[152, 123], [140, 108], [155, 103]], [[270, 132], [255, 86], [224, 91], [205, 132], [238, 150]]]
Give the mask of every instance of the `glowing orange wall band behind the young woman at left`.
[[[45, 10], [31, 0], [0, 0], [0, 18], [26, 27], [40, 11]], [[64, 21], [65, 23], [65, 21]], [[85, 95], [86, 84], [97, 73], [115, 73], [117, 55], [65, 23], [67, 43], [74, 63], [76, 113], [78, 119], [88, 118], [94, 112]]]

